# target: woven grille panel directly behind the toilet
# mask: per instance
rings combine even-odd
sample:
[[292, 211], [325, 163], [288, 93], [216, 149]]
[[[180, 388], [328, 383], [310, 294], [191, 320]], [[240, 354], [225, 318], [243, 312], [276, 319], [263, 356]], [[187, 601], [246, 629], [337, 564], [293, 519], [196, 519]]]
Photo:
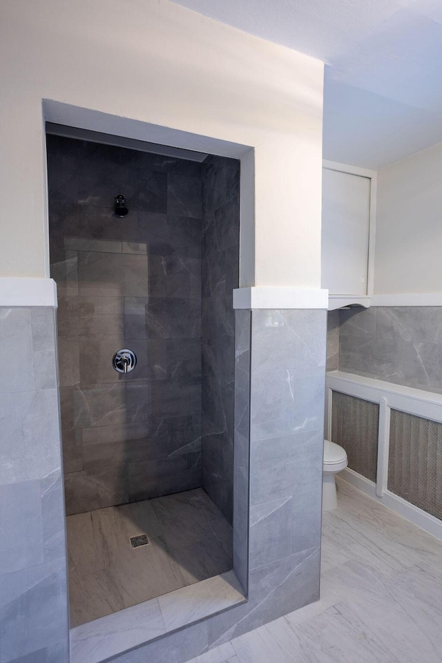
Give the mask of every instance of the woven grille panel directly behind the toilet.
[[347, 452], [349, 468], [371, 481], [376, 481], [378, 428], [378, 403], [333, 392], [332, 442]]

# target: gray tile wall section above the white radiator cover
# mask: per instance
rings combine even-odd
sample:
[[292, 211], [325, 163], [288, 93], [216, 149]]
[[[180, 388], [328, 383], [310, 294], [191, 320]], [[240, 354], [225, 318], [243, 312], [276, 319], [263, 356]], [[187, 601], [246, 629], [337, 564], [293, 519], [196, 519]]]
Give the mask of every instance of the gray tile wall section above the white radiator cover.
[[340, 311], [339, 369], [442, 393], [442, 307]]

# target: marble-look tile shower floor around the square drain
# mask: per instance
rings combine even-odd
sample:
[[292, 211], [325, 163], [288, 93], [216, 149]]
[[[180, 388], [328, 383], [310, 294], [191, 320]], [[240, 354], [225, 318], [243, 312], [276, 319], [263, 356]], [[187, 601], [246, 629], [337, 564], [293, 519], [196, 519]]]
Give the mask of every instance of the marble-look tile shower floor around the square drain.
[[[231, 526], [202, 490], [66, 517], [70, 625], [232, 568]], [[132, 548], [130, 537], [148, 545]]]

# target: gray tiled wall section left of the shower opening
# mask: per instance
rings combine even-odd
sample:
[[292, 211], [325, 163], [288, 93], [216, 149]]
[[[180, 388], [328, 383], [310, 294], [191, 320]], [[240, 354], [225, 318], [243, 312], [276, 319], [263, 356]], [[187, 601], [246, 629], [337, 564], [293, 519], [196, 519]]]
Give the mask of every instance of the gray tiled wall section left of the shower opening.
[[0, 308], [0, 662], [68, 660], [55, 311]]

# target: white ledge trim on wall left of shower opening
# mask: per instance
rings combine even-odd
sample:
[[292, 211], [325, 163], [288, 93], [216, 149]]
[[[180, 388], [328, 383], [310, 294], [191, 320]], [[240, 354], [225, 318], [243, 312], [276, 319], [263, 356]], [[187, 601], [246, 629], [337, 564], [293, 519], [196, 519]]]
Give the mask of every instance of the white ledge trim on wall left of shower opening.
[[53, 278], [0, 277], [0, 307], [57, 306]]

